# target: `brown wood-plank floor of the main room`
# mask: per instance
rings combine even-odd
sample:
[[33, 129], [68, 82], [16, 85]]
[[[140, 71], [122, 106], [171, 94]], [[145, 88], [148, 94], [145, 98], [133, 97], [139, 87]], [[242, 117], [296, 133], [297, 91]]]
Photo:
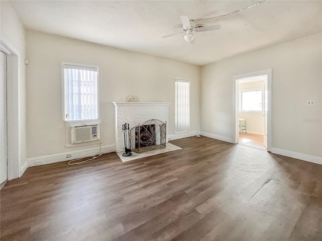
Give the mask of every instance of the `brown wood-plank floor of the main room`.
[[28, 168], [1, 240], [322, 240], [322, 166], [201, 137], [122, 163]]

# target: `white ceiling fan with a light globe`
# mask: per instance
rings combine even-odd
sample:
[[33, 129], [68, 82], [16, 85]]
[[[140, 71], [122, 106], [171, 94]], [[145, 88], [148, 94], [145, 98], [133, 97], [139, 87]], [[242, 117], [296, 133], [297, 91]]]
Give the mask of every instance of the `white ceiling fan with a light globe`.
[[192, 20], [189, 20], [188, 16], [180, 16], [180, 19], [183, 24], [183, 32], [177, 32], [169, 35], [162, 36], [162, 38], [168, 38], [177, 34], [184, 34], [184, 39], [187, 42], [190, 42], [194, 40], [195, 36], [193, 35], [193, 32], [205, 32], [205, 31], [212, 31], [212, 30], [219, 30], [220, 25], [212, 25], [212, 26], [205, 26], [205, 25], [197, 25]]

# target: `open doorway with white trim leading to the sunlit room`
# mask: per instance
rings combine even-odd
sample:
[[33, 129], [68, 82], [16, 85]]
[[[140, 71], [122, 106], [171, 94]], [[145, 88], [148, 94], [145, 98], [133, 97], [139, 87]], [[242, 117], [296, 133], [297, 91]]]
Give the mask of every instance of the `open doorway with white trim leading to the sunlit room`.
[[272, 69], [233, 76], [233, 143], [271, 151]]

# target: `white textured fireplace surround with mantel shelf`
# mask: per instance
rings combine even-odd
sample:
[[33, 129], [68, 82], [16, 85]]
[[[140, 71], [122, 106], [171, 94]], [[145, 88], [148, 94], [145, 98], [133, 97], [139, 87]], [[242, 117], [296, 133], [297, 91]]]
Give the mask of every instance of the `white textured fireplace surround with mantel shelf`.
[[124, 147], [124, 134], [122, 126], [127, 123], [130, 129], [142, 125], [149, 119], [168, 121], [170, 102], [112, 102], [115, 106], [115, 151], [122, 152]]

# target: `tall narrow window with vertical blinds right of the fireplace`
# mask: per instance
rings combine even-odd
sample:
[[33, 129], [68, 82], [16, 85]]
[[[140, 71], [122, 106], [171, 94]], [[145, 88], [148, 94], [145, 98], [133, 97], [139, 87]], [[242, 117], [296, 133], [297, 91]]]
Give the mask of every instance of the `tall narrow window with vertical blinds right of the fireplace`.
[[190, 131], [190, 81], [176, 79], [175, 133]]

